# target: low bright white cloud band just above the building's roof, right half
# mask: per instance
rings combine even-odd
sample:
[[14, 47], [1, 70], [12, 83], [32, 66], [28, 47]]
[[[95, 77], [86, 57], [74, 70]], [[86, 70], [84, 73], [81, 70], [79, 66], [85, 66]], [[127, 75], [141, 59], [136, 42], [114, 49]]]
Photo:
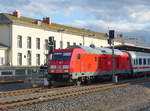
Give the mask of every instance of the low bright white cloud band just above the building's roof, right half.
[[139, 31], [142, 29], [146, 29], [150, 26], [150, 24], [135, 24], [135, 23], [115, 23], [115, 22], [107, 22], [102, 20], [96, 20], [96, 21], [80, 21], [76, 20], [72, 23], [68, 23], [68, 25], [71, 26], [77, 26], [80, 28], [87, 28], [87, 29], [93, 29], [95, 31], [100, 32], [101, 30], [110, 30], [114, 29], [116, 31], [120, 32], [132, 32], [132, 31]]

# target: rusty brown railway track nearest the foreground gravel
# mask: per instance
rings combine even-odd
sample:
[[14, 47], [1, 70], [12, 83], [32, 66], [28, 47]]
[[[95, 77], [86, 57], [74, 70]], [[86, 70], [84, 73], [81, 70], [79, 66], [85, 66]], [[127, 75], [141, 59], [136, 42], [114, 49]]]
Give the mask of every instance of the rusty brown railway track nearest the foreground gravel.
[[0, 98], [0, 110], [6, 110], [14, 107], [19, 107], [23, 105], [35, 104], [45, 101], [50, 101], [54, 99], [69, 97], [69, 96], [77, 96], [81, 94], [92, 93], [96, 91], [103, 91], [112, 88], [126, 87], [137, 83], [149, 82], [150, 79], [138, 80], [125, 82], [120, 84], [106, 84], [106, 85], [91, 85], [91, 86], [82, 86], [76, 88], [61, 88], [58, 90], [47, 90], [42, 92], [36, 92], [27, 95], [17, 95], [14, 98], [5, 97]]

